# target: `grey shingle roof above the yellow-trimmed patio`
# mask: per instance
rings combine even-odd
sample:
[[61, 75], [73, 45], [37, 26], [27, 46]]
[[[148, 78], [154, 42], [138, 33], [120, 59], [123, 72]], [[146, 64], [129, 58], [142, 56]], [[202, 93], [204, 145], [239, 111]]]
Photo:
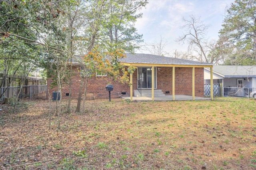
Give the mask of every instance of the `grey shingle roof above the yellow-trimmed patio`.
[[131, 54], [126, 53], [126, 57], [121, 60], [122, 63], [144, 63], [144, 64], [170, 64], [170, 65], [213, 65], [200, 61], [191, 61], [186, 59], [164, 57], [152, 54]]

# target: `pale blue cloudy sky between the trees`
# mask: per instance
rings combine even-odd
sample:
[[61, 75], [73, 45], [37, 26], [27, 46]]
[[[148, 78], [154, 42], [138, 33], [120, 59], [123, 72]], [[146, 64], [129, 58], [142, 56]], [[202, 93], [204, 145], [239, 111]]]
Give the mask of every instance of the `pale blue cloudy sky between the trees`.
[[[174, 54], [177, 51], [186, 51], [188, 44], [175, 42], [185, 33], [181, 27], [182, 18], [190, 19], [191, 15], [200, 17], [203, 24], [210, 25], [207, 38], [217, 40], [218, 32], [222, 28], [225, 9], [234, 0], [148, 0], [146, 8], [140, 12], [135, 28], [138, 34], [143, 34], [144, 43], [155, 43], [162, 40], [168, 44], [164, 51]], [[136, 51], [136, 53], [149, 53], [149, 51]]]

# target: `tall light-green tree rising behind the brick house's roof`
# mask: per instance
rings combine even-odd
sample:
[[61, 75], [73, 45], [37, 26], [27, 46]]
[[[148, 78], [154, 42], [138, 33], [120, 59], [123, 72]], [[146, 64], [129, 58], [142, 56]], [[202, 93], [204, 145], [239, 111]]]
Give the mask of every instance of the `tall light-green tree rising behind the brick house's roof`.
[[102, 30], [99, 30], [101, 47], [107, 51], [119, 48], [134, 52], [142, 42], [142, 35], [136, 32], [134, 24], [142, 17], [138, 12], [147, 3], [147, 0], [107, 0], [102, 14]]

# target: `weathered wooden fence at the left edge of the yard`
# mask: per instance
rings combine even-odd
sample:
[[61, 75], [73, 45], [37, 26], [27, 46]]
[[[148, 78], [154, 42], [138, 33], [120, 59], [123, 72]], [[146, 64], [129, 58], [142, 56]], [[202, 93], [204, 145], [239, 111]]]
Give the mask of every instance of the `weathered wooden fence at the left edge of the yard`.
[[[20, 94], [19, 91], [21, 90]], [[2, 95], [0, 101], [3, 102], [4, 98], [16, 98], [19, 95], [19, 98], [32, 97], [40, 93], [46, 92], [46, 85], [24, 85], [17, 87], [1, 87], [0, 95]]]

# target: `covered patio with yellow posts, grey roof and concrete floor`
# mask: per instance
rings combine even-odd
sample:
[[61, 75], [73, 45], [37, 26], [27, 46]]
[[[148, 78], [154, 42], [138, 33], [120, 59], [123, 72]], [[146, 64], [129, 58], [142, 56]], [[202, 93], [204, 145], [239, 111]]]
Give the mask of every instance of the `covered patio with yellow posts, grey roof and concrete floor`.
[[[126, 54], [126, 58], [121, 62], [125, 66], [136, 68], [134, 75], [130, 74], [130, 97], [123, 97], [124, 99], [131, 101], [213, 100], [213, 64], [211, 63], [151, 54]], [[203, 97], [204, 67], [210, 68], [210, 98]], [[142, 89], [150, 90], [150, 96], [135, 95], [134, 90]], [[162, 90], [164, 96], [155, 95], [155, 90]]]

